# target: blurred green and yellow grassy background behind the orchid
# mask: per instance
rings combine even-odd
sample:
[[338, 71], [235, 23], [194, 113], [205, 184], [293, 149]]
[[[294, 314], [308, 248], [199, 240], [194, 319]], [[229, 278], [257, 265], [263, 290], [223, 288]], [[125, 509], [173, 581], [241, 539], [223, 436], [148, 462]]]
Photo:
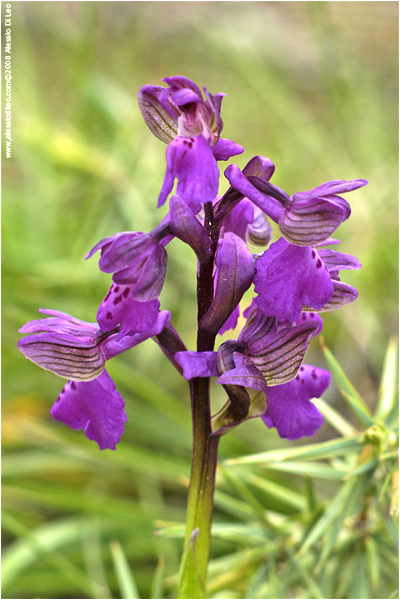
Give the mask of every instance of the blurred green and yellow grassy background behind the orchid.
[[[256, 154], [270, 157], [273, 182], [290, 194], [330, 179], [369, 180], [347, 196], [353, 212], [338, 232], [340, 250], [363, 264], [344, 277], [359, 299], [324, 316], [323, 336], [374, 409], [385, 349], [397, 332], [398, 4], [11, 6], [13, 143], [2, 163], [3, 597], [173, 597], [168, 577], [177, 571], [181, 540], [154, 532], [184, 520], [186, 383], [151, 340], [111, 361], [129, 421], [117, 451], [99, 452], [82, 432], [50, 418], [63, 381], [18, 352], [18, 328], [40, 307], [94, 321], [110, 279], [95, 258], [83, 260], [86, 252], [117, 231], [149, 231], [165, 215], [166, 207], [156, 210], [165, 146], [145, 126], [136, 95], [146, 83], [185, 75], [227, 94], [223, 135], [244, 146], [239, 166]], [[221, 193], [226, 187], [221, 177]], [[193, 349], [195, 262], [178, 241], [168, 249], [162, 307]], [[318, 342], [307, 362], [326, 366]], [[324, 398], [349, 414], [334, 383]], [[215, 405], [222, 399], [216, 394]], [[315, 441], [335, 435], [326, 424]], [[222, 440], [220, 458], [285, 446], [254, 420]], [[290, 474], [271, 477], [290, 490], [303, 485]], [[221, 470], [218, 523], [240, 520], [235, 500], [224, 504], [227, 481]], [[321, 498], [333, 489], [329, 480], [318, 484]], [[279, 495], [266, 493], [262, 502], [295, 512]], [[213, 545], [220, 560], [241, 549], [234, 535]], [[139, 595], [120, 595], [123, 557]], [[284, 559], [276, 565], [279, 578]], [[213, 597], [328, 597], [310, 592], [304, 577], [288, 583], [284, 596], [260, 596], [246, 588], [248, 574], [238, 570], [233, 583], [216, 584]], [[388, 597], [394, 575], [382, 577], [369, 597]], [[366, 597], [345, 595], [363, 593], [357, 585], [340, 597]]]

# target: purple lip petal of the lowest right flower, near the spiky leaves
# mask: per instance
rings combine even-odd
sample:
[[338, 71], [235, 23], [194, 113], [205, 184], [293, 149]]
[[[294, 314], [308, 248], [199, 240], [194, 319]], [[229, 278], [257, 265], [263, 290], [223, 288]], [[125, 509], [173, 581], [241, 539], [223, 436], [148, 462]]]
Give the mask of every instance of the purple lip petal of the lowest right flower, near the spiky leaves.
[[310, 399], [319, 398], [329, 381], [328, 371], [303, 365], [295, 379], [268, 387], [265, 424], [276, 427], [280, 437], [288, 440], [313, 436], [321, 427], [323, 417]]

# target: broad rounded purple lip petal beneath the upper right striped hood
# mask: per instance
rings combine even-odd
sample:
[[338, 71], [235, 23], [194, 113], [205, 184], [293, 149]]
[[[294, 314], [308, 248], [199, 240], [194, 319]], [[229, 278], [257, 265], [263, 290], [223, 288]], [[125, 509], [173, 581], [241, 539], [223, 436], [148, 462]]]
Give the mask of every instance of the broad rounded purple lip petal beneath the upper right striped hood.
[[257, 305], [280, 321], [296, 320], [302, 306], [322, 308], [333, 294], [331, 277], [315, 248], [280, 238], [256, 262]]

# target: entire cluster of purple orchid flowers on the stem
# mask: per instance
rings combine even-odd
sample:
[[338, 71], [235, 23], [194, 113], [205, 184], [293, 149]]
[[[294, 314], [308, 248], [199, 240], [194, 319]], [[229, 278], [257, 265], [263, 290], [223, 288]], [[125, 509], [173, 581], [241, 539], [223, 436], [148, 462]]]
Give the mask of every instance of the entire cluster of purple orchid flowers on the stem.
[[[158, 206], [169, 198], [168, 214], [149, 234], [117, 233], [86, 256], [99, 250], [99, 267], [113, 279], [97, 323], [41, 311], [48, 317], [22, 327], [28, 335], [19, 349], [68, 380], [51, 414], [73, 429], [84, 429], [101, 449], [115, 449], [126, 422], [124, 400], [105, 370], [107, 360], [150, 337], [187, 380], [217, 377], [227, 393], [226, 405], [204, 431], [199, 423], [204, 425], [205, 413], [197, 422], [204, 448], [210, 427], [211, 436], [220, 436], [256, 416], [289, 440], [314, 435], [322, 416], [311, 400], [321, 396], [330, 379], [328, 371], [303, 364], [322, 329], [315, 311], [355, 300], [357, 291], [340, 281], [339, 272], [361, 267], [355, 257], [324, 246], [336, 243], [331, 234], [350, 216], [350, 205], [340, 194], [367, 181], [329, 181], [290, 196], [270, 182], [272, 161], [255, 156], [242, 171], [236, 165], [226, 169], [230, 187], [218, 197], [217, 161], [243, 152], [221, 138], [225, 94], [212, 95], [186, 77], [163, 81], [164, 87], [142, 87], [138, 101], [147, 126], [167, 144]], [[253, 255], [247, 244], [265, 247], [271, 241], [270, 219], [283, 237]], [[160, 311], [165, 247], [174, 237], [188, 244], [198, 261], [197, 352], [186, 350], [169, 324], [170, 313]], [[236, 328], [239, 303], [252, 283], [257, 296], [243, 313], [246, 323], [238, 339], [214, 351], [217, 334]], [[191, 383], [192, 405], [209, 411], [203, 384]], [[200, 412], [194, 411], [193, 418], [200, 419]]]

